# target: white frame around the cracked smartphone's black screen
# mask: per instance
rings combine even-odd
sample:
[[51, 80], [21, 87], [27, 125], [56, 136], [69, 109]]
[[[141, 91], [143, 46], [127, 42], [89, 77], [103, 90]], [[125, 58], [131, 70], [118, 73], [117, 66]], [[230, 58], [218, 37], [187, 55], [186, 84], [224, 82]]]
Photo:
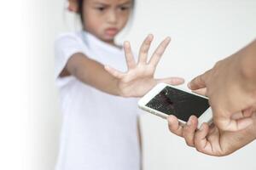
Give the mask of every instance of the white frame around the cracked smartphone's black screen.
[[[148, 111], [149, 113], [152, 113], [156, 116], [160, 116], [164, 119], [166, 119], [169, 115], [167, 115], [166, 113], [163, 113], [161, 111], [156, 111], [152, 108], [149, 108], [148, 106], [146, 106], [148, 104], [148, 102], [153, 99], [157, 94], [160, 93], [160, 91], [163, 89], [163, 88], [166, 88], [166, 86], [169, 86], [171, 88], [176, 88], [178, 90], [182, 90], [186, 93], [189, 93], [189, 94], [193, 94], [193, 95], [196, 95], [196, 96], [199, 96], [201, 98], [205, 98], [207, 99], [207, 97], [205, 96], [201, 96], [199, 94], [194, 94], [194, 93], [191, 93], [191, 92], [188, 92], [186, 90], [183, 90], [181, 88], [177, 88], [177, 87], [174, 87], [172, 85], [169, 85], [169, 84], [166, 84], [166, 83], [163, 83], [163, 82], [160, 82], [159, 84], [157, 84], [154, 88], [152, 88], [147, 94], [145, 94], [143, 96], [142, 99], [140, 99], [138, 101], [138, 107], [141, 108], [143, 111]], [[179, 122], [181, 122], [182, 125], [186, 124], [186, 122], [184, 122], [183, 120], [180, 120], [178, 119]], [[207, 122], [208, 124], [210, 124], [212, 122], [212, 109], [211, 107], [209, 107], [207, 109], [207, 111], [205, 111], [200, 117], [198, 117], [198, 128], [201, 127], [201, 124], [203, 122]]]

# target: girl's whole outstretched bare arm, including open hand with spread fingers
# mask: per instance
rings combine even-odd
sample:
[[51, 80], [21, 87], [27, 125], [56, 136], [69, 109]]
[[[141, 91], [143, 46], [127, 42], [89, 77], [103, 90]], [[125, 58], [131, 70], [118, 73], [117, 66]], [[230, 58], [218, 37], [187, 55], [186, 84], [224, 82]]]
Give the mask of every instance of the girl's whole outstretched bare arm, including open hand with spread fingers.
[[178, 77], [154, 79], [154, 71], [160, 61], [160, 57], [170, 42], [170, 38], [167, 37], [161, 42], [159, 47], [154, 51], [151, 59], [147, 61], [148, 49], [152, 40], [152, 35], [148, 35], [144, 40], [140, 48], [137, 63], [131, 54], [130, 43], [125, 42], [125, 59], [128, 67], [128, 71], [126, 72], [114, 70], [108, 65], [102, 65], [84, 56], [84, 54], [78, 53], [73, 54], [67, 61], [67, 66], [61, 75], [71, 74], [81, 82], [89, 84], [102, 92], [122, 97], [143, 96], [158, 82], [166, 82], [172, 85], [183, 83], [183, 79]]

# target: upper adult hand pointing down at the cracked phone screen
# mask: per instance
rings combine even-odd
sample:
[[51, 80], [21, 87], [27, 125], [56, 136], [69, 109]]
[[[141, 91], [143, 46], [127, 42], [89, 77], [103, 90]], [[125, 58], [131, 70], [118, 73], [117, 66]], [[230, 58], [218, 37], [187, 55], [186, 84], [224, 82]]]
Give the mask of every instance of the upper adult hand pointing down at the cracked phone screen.
[[[218, 61], [211, 70], [189, 83], [190, 89], [200, 90], [209, 97], [213, 121], [222, 130], [241, 130], [253, 122], [250, 114], [242, 114], [244, 111], [250, 113], [247, 110], [253, 110], [256, 105], [253, 54], [256, 54], [256, 42]], [[236, 114], [242, 115], [241, 118], [234, 118]]]

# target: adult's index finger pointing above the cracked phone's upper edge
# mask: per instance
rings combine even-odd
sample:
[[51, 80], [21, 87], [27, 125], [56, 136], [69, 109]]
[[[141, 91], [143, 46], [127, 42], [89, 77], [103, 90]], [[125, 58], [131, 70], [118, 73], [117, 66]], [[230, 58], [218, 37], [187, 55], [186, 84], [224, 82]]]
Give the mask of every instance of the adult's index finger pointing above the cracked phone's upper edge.
[[204, 74], [195, 77], [191, 82], [189, 82], [188, 87], [191, 90], [196, 90], [199, 88], [206, 88], [206, 80], [209, 77], [211, 70], [205, 72]]

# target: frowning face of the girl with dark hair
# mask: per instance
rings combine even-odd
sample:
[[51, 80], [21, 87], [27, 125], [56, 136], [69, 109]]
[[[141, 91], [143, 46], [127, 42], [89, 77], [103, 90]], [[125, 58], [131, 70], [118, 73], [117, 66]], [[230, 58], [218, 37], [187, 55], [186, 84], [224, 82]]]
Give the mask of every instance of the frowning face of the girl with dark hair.
[[[70, 0], [73, 1], [73, 0]], [[84, 0], [84, 30], [104, 42], [113, 43], [131, 14], [132, 0]]]

